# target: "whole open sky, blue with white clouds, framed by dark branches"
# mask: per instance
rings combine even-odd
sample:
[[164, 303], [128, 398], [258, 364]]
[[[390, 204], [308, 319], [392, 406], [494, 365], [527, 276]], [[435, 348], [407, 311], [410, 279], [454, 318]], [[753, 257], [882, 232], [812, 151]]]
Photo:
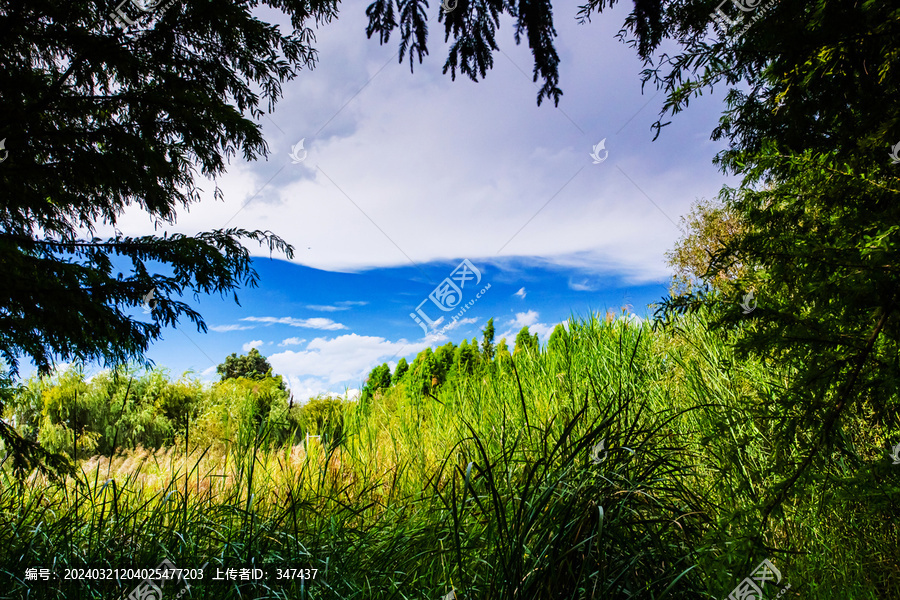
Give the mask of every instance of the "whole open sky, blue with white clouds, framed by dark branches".
[[[260, 121], [268, 159], [232, 160], [215, 182], [224, 201], [201, 181], [203, 200], [165, 228], [271, 230], [296, 252], [286, 261], [251, 247], [259, 287], [238, 291], [241, 306], [194, 302], [209, 332], [167, 330], [149, 353], [158, 366], [213, 380], [226, 355], [257, 347], [302, 400], [358, 389], [373, 366], [427, 346], [480, 337], [489, 317], [498, 339], [529, 325], [546, 341], [572, 315], [630, 305], [644, 317], [665, 295], [680, 216], [734, 183], [711, 163], [724, 147], [710, 141], [721, 94], [692, 101], [651, 141], [664, 96], [641, 93], [643, 66], [615, 39], [627, 6], [579, 25], [577, 7], [560, 4], [559, 108], [536, 106], [530, 51], [515, 45], [509, 19], [487, 78], [452, 82], [432, 4], [430, 56], [414, 74], [398, 64], [397, 40], [366, 38], [364, 5], [344, 6], [316, 33], [316, 69], [287, 83]], [[117, 227], [162, 232], [139, 210]], [[426, 334], [410, 313], [463, 260], [490, 288], [452, 327]], [[477, 292], [467, 285], [462, 304]]]

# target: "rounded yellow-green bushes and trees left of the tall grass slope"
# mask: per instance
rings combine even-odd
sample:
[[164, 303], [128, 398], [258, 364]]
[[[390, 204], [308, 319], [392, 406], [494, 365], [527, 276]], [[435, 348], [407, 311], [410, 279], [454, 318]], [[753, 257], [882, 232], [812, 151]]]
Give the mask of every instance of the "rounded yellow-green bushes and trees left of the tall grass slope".
[[207, 447], [263, 429], [274, 444], [308, 434], [340, 441], [345, 403], [329, 396], [294, 402], [256, 349], [232, 354], [218, 371], [220, 381], [204, 385], [188, 376], [172, 380], [164, 370], [122, 367], [88, 378], [70, 367], [27, 380], [2, 416], [26, 439], [70, 459], [184, 442]]

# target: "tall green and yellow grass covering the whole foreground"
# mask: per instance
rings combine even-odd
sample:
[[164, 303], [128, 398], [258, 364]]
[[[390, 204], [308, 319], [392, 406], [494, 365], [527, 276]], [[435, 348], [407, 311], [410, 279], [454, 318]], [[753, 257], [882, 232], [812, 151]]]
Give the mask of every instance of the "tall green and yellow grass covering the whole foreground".
[[[778, 587], [791, 584], [783, 598], [897, 592], [897, 521], [857, 529], [889, 512], [896, 485], [873, 492], [834, 463], [819, 476], [868, 495], [794, 496], [754, 529], [768, 478], [791, 460], [767, 443], [789, 373], [727, 348], [701, 317], [669, 332], [590, 318], [543, 351], [430, 386], [406, 377], [289, 435], [284, 407], [235, 388], [240, 410], [218, 439], [191, 433], [214, 429], [208, 415], [223, 413], [207, 407], [168, 448], [90, 457], [77, 480], [3, 472], [0, 595], [76, 597], [24, 581], [27, 567], [163, 558], [206, 564], [207, 578], [225, 565], [270, 571], [255, 586], [195, 582], [197, 598], [721, 598], [764, 558]], [[860, 447], [882, 441], [858, 435]], [[279, 566], [318, 571], [275, 581]]]

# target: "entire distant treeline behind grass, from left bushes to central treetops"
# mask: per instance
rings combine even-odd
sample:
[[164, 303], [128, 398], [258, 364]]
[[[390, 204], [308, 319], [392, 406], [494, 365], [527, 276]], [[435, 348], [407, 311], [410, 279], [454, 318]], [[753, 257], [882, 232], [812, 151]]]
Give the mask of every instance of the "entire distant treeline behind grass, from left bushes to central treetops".
[[[527, 326], [512, 351], [505, 338], [495, 344], [493, 319], [482, 334], [481, 341], [426, 348], [412, 363], [401, 358], [393, 372], [386, 363], [375, 367], [360, 399], [370, 402], [392, 387], [401, 394], [434, 396], [449, 382], [511, 372], [512, 357], [541, 351]], [[558, 325], [548, 345], [561, 343], [565, 334]], [[275, 445], [308, 435], [321, 436], [330, 446], [341, 443], [350, 402], [328, 395], [295, 402], [282, 376], [255, 348], [243, 356], [231, 354], [217, 371], [220, 380], [205, 385], [187, 374], [172, 379], [159, 369], [123, 366], [87, 377], [70, 367], [25, 381], [8, 395], [2, 417], [25, 439], [69, 459], [185, 442], [207, 447], [263, 429], [267, 443]]]

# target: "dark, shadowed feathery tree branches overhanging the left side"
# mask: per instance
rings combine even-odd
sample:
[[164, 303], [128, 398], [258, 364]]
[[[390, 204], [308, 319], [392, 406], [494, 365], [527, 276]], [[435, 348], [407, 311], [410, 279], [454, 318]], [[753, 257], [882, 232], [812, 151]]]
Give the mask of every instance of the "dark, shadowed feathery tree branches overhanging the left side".
[[[260, 104], [271, 110], [282, 82], [314, 65], [309, 23], [330, 20], [337, 2], [265, 4], [295, 31], [249, 2], [177, 1], [142, 20], [126, 3], [125, 29], [114, 3], [0, 2], [0, 355], [13, 374], [22, 356], [42, 372], [54, 359], [142, 360], [181, 317], [206, 331], [184, 292], [255, 285], [242, 240], [292, 255], [274, 234], [239, 228], [92, 235], [129, 206], [173, 223], [200, 198], [197, 174], [220, 175], [238, 152], [266, 155]], [[152, 318], [130, 314], [142, 304]]]

